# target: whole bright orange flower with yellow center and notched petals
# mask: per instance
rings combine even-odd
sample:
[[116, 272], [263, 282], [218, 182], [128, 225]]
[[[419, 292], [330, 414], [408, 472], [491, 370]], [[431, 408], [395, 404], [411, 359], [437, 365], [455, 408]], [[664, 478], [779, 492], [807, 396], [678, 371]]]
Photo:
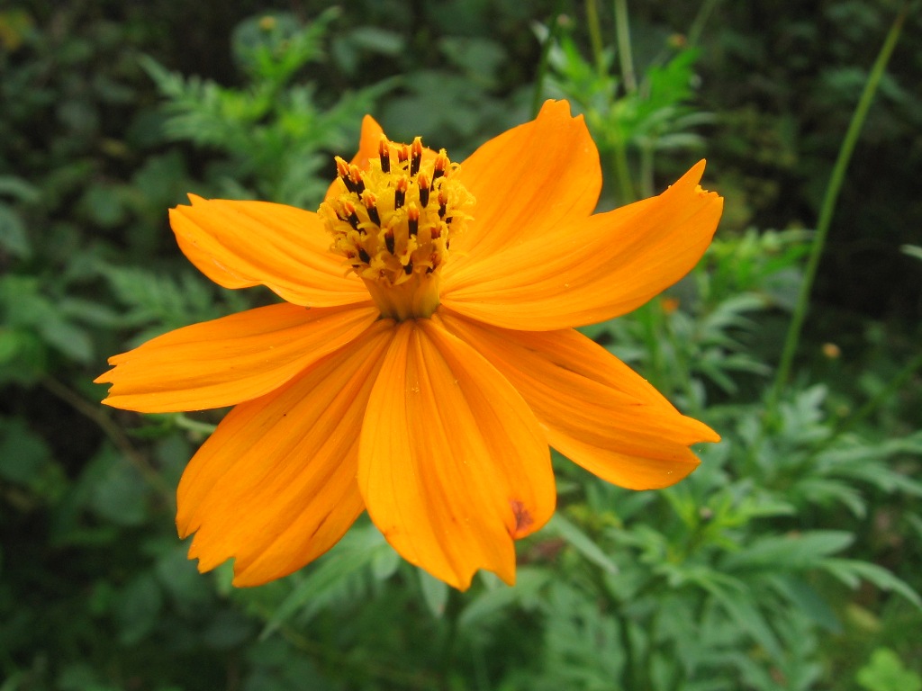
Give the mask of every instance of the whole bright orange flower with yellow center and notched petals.
[[549, 445], [645, 489], [719, 439], [572, 328], [633, 310], [698, 261], [722, 208], [698, 185], [703, 161], [593, 216], [596, 146], [549, 101], [461, 165], [366, 117], [337, 170], [316, 214], [192, 195], [172, 209], [205, 275], [286, 301], [164, 334], [97, 380], [117, 408], [236, 406], [179, 486], [200, 570], [235, 557], [235, 584], [278, 579], [368, 510], [455, 588], [478, 568], [513, 583], [514, 540], [554, 510]]

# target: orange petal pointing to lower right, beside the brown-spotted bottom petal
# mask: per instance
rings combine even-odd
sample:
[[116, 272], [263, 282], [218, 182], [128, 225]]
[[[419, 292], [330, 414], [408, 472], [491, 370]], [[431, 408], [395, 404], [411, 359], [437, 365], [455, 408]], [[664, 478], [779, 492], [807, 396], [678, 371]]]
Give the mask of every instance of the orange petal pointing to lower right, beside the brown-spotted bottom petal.
[[538, 420], [550, 445], [610, 483], [665, 487], [698, 465], [689, 445], [719, 441], [682, 416], [605, 348], [572, 329], [516, 332], [439, 312], [445, 327], [502, 372]]

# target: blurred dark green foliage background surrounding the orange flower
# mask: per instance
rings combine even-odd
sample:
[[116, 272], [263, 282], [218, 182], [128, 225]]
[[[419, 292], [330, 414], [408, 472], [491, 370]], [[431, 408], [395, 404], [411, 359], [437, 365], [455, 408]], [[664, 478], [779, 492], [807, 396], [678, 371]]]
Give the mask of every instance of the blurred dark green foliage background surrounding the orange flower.
[[[0, 5], [0, 691], [922, 689], [919, 14]], [[198, 275], [167, 208], [193, 192], [313, 210], [366, 112], [458, 160], [546, 98], [585, 113], [600, 208], [708, 158], [727, 207], [702, 264], [585, 331], [724, 441], [658, 492], [555, 463], [560, 509], [519, 544], [514, 588], [488, 574], [449, 591], [366, 519], [265, 587], [231, 589], [229, 565], [199, 575], [174, 490], [219, 414], [115, 412], [90, 381], [151, 335], [272, 296]]]

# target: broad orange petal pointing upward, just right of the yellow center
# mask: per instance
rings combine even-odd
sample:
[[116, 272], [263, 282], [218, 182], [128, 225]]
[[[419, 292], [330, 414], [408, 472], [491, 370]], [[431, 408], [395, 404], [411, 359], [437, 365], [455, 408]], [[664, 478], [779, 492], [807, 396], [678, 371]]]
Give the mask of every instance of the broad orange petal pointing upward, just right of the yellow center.
[[452, 239], [457, 266], [589, 216], [602, 188], [596, 145], [565, 100], [547, 101], [535, 120], [480, 146], [457, 177], [477, 199], [474, 219]]

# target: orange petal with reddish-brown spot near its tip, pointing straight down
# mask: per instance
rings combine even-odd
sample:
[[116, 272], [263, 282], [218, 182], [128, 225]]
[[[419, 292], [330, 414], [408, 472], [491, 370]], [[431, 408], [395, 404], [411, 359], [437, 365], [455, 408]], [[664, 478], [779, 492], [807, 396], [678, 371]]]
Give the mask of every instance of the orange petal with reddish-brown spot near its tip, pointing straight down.
[[361, 430], [369, 515], [409, 562], [464, 590], [478, 568], [515, 579], [513, 538], [556, 493], [547, 441], [508, 381], [432, 320], [403, 322]]

